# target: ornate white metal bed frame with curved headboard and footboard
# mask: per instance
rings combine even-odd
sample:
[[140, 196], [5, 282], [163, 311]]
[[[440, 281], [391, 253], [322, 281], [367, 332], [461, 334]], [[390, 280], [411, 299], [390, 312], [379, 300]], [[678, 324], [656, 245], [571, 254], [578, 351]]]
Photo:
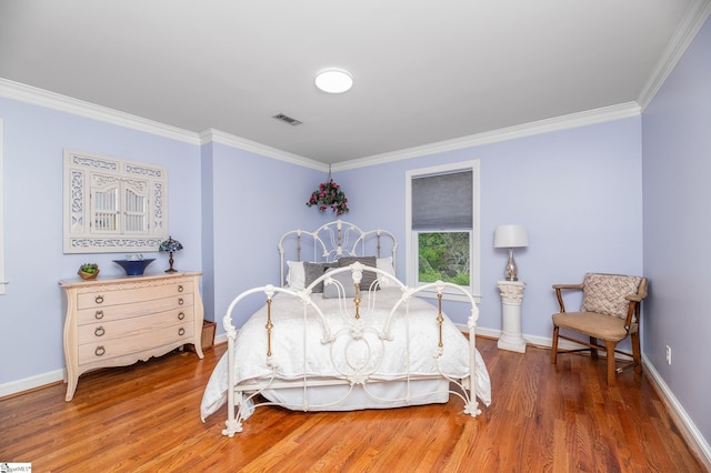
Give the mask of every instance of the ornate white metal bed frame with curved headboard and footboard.
[[[336, 261], [338, 260], [338, 258], [342, 255], [363, 255], [364, 251], [370, 251], [369, 250], [369, 245], [371, 244], [371, 242], [369, 242], [370, 239], [374, 239], [374, 242], [372, 242], [372, 244], [374, 244], [374, 250], [377, 251], [378, 258], [380, 258], [383, 236], [385, 236], [389, 240], [390, 252], [393, 256], [393, 264], [394, 264], [394, 260], [395, 260], [394, 256], [397, 252], [397, 240], [392, 233], [384, 230], [374, 230], [370, 232], [363, 232], [358, 227], [351, 223], [338, 220], [338, 221], [330, 222], [322, 225], [314, 232], [308, 232], [302, 230], [294, 230], [294, 231], [288, 232], [279, 240], [279, 251], [281, 254], [281, 281], [282, 282], [284, 281], [284, 266], [286, 266], [284, 242], [290, 238], [296, 239], [297, 260], [301, 260], [302, 258], [302, 250], [303, 250], [302, 240], [306, 239], [306, 240], [312, 240], [313, 242], [313, 253], [311, 253], [311, 258], [319, 256], [317, 261], [328, 262], [328, 261]], [[311, 261], [314, 261], [314, 260], [311, 260]], [[367, 316], [361, 316], [361, 310], [364, 311], [362, 315], [367, 315], [369, 310], [372, 309], [379, 292], [374, 290], [367, 291], [364, 292], [364, 295], [361, 292], [360, 282], [361, 282], [362, 275], [364, 272], [369, 272], [369, 271], [375, 272], [377, 278], [379, 278], [379, 280], [382, 280], [382, 279], [389, 280], [391, 284], [397, 285], [398, 288], [400, 288], [400, 291], [401, 291], [401, 296], [390, 310], [389, 316], [384, 321], [379, 320], [378, 323], [373, 323], [374, 322], [373, 320], [368, 321]], [[354, 284], [356, 296], [352, 299], [352, 303], [348, 301], [347, 298], [344, 298], [346, 288], [339, 281], [337, 281], [337, 279], [333, 278], [339, 273], [346, 273], [346, 272], [351, 273], [351, 279]], [[339, 293], [338, 305], [340, 308], [340, 314], [338, 314], [338, 316], [348, 318], [347, 329], [341, 329], [337, 332], [333, 332], [331, 329], [331, 323], [329, 318], [333, 318], [334, 315], [324, 314], [321, 311], [321, 309], [311, 299], [312, 289], [321, 282], [323, 282], [326, 285], [336, 284]], [[442, 373], [439, 365], [439, 360], [443, 352], [442, 293], [444, 288], [448, 288], [448, 290], [462, 292], [467, 296], [471, 305], [471, 313], [468, 319], [469, 373], [468, 373], [468, 376], [463, 379], [452, 379], [448, 376], [447, 374]], [[374, 288], [365, 288], [365, 289], [374, 289]], [[340, 360], [347, 360], [346, 365], [338, 368], [339, 372], [342, 373], [342, 376], [338, 376], [333, 379], [330, 379], [330, 378], [324, 379], [322, 376], [318, 379], [309, 379], [308, 376], [304, 375], [299, 380], [292, 380], [292, 381], [279, 380], [277, 378], [277, 366], [274, 365], [273, 359], [272, 359], [273, 324], [272, 324], [272, 318], [271, 318], [271, 304], [274, 295], [277, 295], [278, 293], [283, 293], [300, 300], [303, 303], [304, 320], [308, 316], [307, 313], [309, 308], [316, 311], [316, 314], [317, 314], [316, 316], [318, 318], [322, 326], [321, 343], [331, 345], [331, 362], [337, 364], [336, 358], [333, 356], [333, 352], [332, 352], [334, 350], [333, 348], [338, 344], [337, 341], [340, 340], [339, 343], [344, 343], [344, 346], [348, 346], [350, 343], [362, 343], [364, 341], [364, 343], [368, 344], [369, 356], [372, 356], [370, 344], [369, 344], [371, 342], [367, 340], [368, 336], [370, 336], [370, 340], [374, 340], [374, 335], [377, 335], [378, 343], [382, 343], [382, 344], [385, 344], [388, 343], [389, 340], [392, 340], [390, 330], [391, 330], [391, 322], [395, 314], [395, 311], [398, 311], [398, 309], [404, 304], [405, 313], [409, 313], [408, 302], [410, 301], [411, 298], [415, 296], [422, 291], [435, 291], [438, 294], [438, 308], [434, 308], [434, 306], [432, 308], [433, 312], [435, 312], [437, 322], [439, 326], [438, 333], [432, 334], [432, 336], [438, 338], [438, 344], [437, 344], [438, 348], [437, 348], [437, 353], [433, 353], [432, 355], [435, 359], [435, 365], [439, 371], [439, 375], [422, 376], [422, 375], [404, 373], [403, 379], [398, 381], [405, 382], [405, 385], [407, 385], [405, 396], [403, 399], [388, 399], [387, 401], [409, 403], [409, 401], [411, 401], [412, 399], [410, 393], [410, 382], [420, 381], [420, 380], [444, 379], [449, 381], [449, 383], [454, 384], [455, 386], [455, 390], [449, 389], [448, 391], [449, 394], [454, 394], [463, 400], [464, 402], [463, 412], [471, 416], [479, 415], [481, 413], [481, 410], [479, 409], [479, 404], [477, 400], [475, 336], [474, 336], [477, 320], [479, 319], [479, 310], [471, 294], [469, 294], [461, 286], [451, 284], [451, 283], [444, 283], [442, 281], [419, 286], [417, 289], [411, 289], [402, 284], [399, 280], [397, 280], [394, 276], [392, 276], [385, 271], [382, 271], [380, 269], [372, 268], [372, 266], [365, 266], [360, 262], [356, 262], [350, 266], [339, 268], [339, 269], [332, 270], [329, 273], [321, 275], [303, 290], [293, 290], [290, 288], [274, 286], [274, 285], [268, 284], [268, 285], [247, 290], [232, 300], [222, 320], [222, 324], [227, 331], [227, 338], [228, 338], [228, 396], [227, 396], [228, 397], [228, 402], [227, 402], [228, 420], [226, 421], [226, 429], [222, 431], [222, 434], [231, 437], [234, 435], [234, 433], [242, 432], [242, 421], [249, 417], [252, 411], [258, 406], [282, 405], [289, 409], [297, 409], [302, 411], [324, 409], [326, 405], [309, 405], [309, 402], [307, 399], [308, 397], [307, 392], [309, 389], [312, 389], [312, 388], [347, 386], [348, 391], [346, 395], [343, 395], [342, 399], [337, 401], [337, 402], [340, 402], [340, 401], [343, 401], [343, 399], [348, 397], [349, 394], [351, 394], [354, 386], [360, 386], [363, 390], [363, 392], [368, 394], [371, 399], [377, 399], [373, 394], [369, 392], [368, 386], [373, 383], [388, 382], [382, 380], [373, 380], [370, 378], [370, 375], [375, 371], [373, 366], [377, 368], [379, 363], [382, 362], [382, 360], [369, 359], [367, 363], [361, 363], [360, 365], [354, 366], [348, 362], [348, 353], [346, 353], [347, 349], [343, 349], [344, 350], [343, 352], [339, 352], [339, 354], [342, 354]], [[257, 382], [250, 381], [248, 383], [238, 384], [234, 379], [236, 378], [236, 365], [234, 365], [236, 364], [236, 340], [237, 340], [238, 331], [232, 324], [232, 313], [234, 312], [236, 308], [239, 306], [239, 303], [243, 299], [256, 293], [263, 293], [267, 298], [268, 316], [267, 316], [267, 324], [264, 326], [266, 329], [264, 333], [268, 338], [268, 344], [267, 344], [267, 353], [264, 353], [264, 356], [266, 356], [264, 362], [267, 366], [270, 368], [272, 374], [269, 378], [258, 380]], [[365, 300], [363, 301], [361, 296], [363, 296]], [[409, 318], [405, 316], [405, 320], [407, 320], [405, 326], [407, 326], [407, 330], [409, 331]], [[306, 338], [306, 329], [304, 329], [304, 338]], [[408, 340], [408, 350], [405, 350], [405, 352], [409, 353], [409, 349], [410, 349], [409, 339], [405, 338], [405, 340]], [[308, 349], [307, 344], [304, 343], [304, 351], [307, 349]], [[304, 363], [306, 363], [306, 353], [304, 353]], [[341, 364], [342, 364], [342, 361], [341, 361]], [[306, 366], [303, 372], [306, 373]], [[233, 388], [230, 388], [230, 386], [233, 386]], [[294, 389], [294, 388], [303, 390], [303, 401], [300, 405], [293, 405], [293, 404], [284, 405], [282, 403], [272, 402], [269, 400], [254, 403], [254, 400], [258, 399], [257, 396], [264, 391]], [[427, 395], [427, 394], [433, 394], [433, 393], [425, 393], [421, 395]], [[384, 400], [379, 400], [379, 401], [384, 401]]]

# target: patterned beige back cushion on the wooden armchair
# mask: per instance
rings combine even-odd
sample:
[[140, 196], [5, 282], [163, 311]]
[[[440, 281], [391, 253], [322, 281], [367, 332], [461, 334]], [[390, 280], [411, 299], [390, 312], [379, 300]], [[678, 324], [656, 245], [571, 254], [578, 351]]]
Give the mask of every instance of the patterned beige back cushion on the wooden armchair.
[[630, 302], [624, 296], [637, 294], [641, 281], [640, 276], [588, 273], [580, 310], [625, 319]]

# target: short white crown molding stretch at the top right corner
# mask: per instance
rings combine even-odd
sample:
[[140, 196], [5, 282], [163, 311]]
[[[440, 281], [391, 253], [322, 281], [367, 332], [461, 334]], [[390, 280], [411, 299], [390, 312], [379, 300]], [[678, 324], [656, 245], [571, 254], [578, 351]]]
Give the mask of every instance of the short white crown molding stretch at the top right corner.
[[640, 92], [637, 101], [640, 103], [642, 111], [652, 102], [652, 99], [654, 99], [671, 71], [674, 70], [674, 67], [677, 67], [677, 63], [709, 16], [711, 16], [711, 0], [697, 0], [689, 6], [683, 20], [679, 23], [679, 28], [677, 28], [662, 58], [657, 63], [654, 72], [652, 72]]

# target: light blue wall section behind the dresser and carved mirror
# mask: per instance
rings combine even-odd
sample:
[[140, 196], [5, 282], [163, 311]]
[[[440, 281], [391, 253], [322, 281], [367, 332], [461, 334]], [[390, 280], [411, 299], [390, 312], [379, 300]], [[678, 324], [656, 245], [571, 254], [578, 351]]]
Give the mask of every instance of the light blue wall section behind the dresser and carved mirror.
[[[0, 118], [10, 281], [0, 295], [2, 384], [63, 368], [61, 279], [76, 278], [82, 262], [98, 263], [101, 275], [123, 274], [111, 261], [121, 253], [62, 254], [64, 148], [166, 167], [169, 230], [186, 248], [176, 255], [176, 265], [196, 269], [202, 262], [197, 145], [1, 98]], [[146, 256], [157, 258], [149, 272], [168, 265], [164, 254]]]

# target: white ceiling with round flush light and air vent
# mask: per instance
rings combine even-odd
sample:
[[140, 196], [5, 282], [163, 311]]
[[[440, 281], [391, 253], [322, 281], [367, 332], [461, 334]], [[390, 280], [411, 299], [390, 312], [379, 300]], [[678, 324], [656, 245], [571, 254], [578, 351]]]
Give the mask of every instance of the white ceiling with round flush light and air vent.
[[642, 103], [708, 3], [1, 0], [0, 78], [339, 163]]

